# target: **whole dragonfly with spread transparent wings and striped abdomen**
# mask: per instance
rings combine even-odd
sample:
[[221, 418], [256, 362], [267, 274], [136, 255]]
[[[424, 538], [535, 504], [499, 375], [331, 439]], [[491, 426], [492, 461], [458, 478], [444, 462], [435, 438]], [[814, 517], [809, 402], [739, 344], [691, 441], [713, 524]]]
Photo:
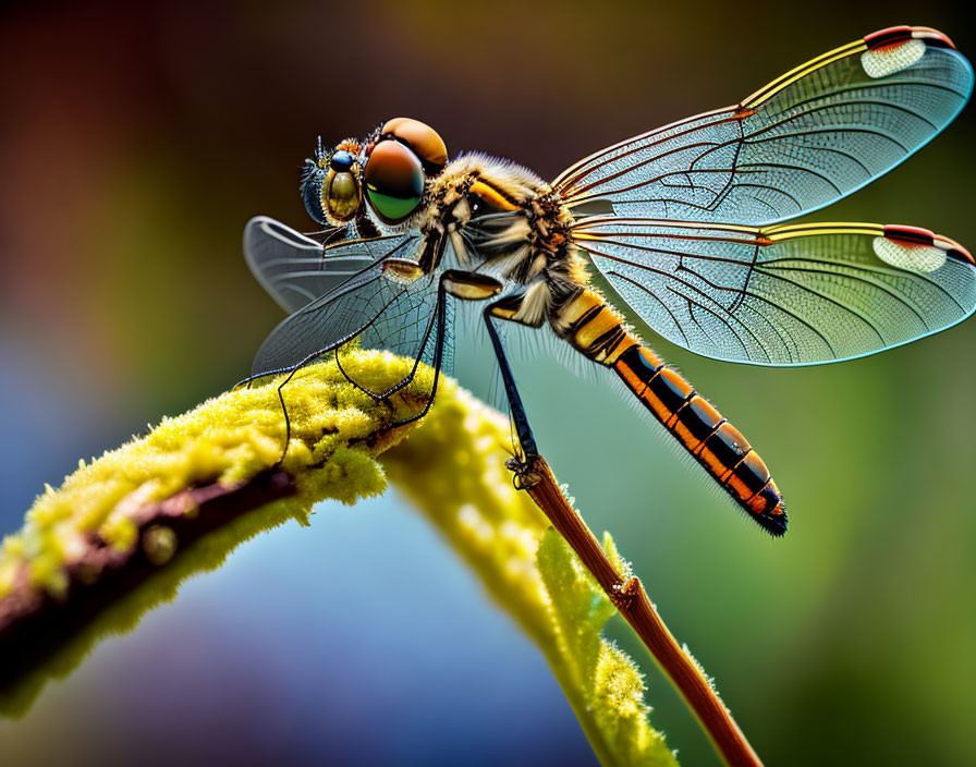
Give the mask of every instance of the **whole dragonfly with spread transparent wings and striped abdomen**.
[[[853, 360], [949, 328], [976, 308], [976, 261], [929, 230], [790, 223], [882, 175], [968, 100], [973, 70], [942, 33], [899, 26], [802, 64], [731, 107], [597, 151], [546, 182], [463, 154], [408, 118], [306, 161], [301, 193], [326, 229], [252, 219], [244, 253], [289, 312], [252, 377], [288, 374], [350, 343], [414, 360], [377, 400], [453, 358], [454, 306], [477, 304], [516, 449], [538, 455], [505, 327], [550, 332], [612, 370], [706, 474], [773, 536], [783, 497], [756, 450], [629, 325], [697, 354], [798, 366]], [[937, 184], [934, 184], [937, 188]], [[477, 314], [477, 313], [476, 313]], [[548, 330], [547, 330], [548, 329]], [[346, 375], [350, 381], [359, 386]], [[285, 419], [288, 413], [281, 399]], [[288, 441], [285, 441], [285, 450]]]

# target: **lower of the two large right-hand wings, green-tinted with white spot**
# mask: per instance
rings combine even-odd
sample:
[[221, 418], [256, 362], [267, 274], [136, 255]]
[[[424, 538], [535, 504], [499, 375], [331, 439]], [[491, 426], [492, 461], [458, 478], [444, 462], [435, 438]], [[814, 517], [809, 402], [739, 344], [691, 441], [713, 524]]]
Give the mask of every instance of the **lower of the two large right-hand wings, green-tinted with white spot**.
[[717, 360], [850, 360], [943, 330], [976, 308], [973, 257], [911, 227], [607, 217], [581, 221], [573, 238], [656, 332]]

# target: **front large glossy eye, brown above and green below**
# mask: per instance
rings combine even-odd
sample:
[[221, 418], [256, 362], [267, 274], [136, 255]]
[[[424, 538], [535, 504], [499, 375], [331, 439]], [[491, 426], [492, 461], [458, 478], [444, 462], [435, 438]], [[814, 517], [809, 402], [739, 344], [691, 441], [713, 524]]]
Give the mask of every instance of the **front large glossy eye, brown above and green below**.
[[410, 216], [424, 196], [424, 169], [413, 151], [394, 141], [381, 141], [366, 161], [366, 196], [387, 223]]

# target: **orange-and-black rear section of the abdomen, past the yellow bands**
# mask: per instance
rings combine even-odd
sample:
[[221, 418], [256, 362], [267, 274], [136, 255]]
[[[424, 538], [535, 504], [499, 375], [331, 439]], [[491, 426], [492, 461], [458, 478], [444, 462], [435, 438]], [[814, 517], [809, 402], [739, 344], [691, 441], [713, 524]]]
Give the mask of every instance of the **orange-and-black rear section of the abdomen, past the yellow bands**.
[[783, 497], [762, 459], [691, 384], [639, 343], [613, 369], [749, 516], [772, 535], [786, 532]]

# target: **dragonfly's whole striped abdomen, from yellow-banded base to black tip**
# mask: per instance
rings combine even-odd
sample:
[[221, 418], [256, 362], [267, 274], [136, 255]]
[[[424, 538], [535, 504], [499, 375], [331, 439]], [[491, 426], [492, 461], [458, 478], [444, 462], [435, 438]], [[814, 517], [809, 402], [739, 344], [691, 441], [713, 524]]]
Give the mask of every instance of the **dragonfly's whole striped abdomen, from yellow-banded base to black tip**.
[[759, 454], [681, 374], [630, 333], [613, 308], [585, 290], [558, 312], [558, 332], [590, 360], [612, 367], [749, 516], [772, 535], [786, 532], [783, 498]]

